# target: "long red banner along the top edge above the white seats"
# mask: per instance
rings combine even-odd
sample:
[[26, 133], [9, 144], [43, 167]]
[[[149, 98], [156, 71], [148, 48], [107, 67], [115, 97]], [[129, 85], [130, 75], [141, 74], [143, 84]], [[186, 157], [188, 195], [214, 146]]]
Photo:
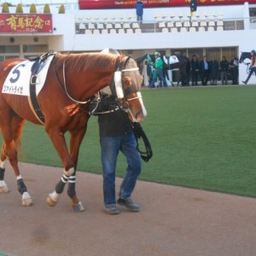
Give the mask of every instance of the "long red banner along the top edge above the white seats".
[[[80, 9], [131, 9], [137, 0], [79, 0]], [[197, 0], [200, 5], [256, 3], [256, 0]], [[143, 0], [144, 8], [188, 6], [190, 0]]]

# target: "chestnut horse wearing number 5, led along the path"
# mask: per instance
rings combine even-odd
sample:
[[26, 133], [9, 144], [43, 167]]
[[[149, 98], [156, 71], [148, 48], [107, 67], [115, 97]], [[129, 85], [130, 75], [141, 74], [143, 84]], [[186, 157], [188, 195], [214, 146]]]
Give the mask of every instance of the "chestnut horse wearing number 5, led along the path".
[[[71, 198], [73, 211], [82, 212], [84, 207], [75, 191], [76, 169], [79, 147], [90, 118], [90, 98], [106, 86], [117, 96], [119, 108], [124, 106], [133, 122], [139, 122], [146, 115], [139, 92], [143, 78], [137, 63], [125, 55], [105, 53], [83, 53], [62, 55], [55, 53], [49, 64], [44, 87], [38, 93], [38, 107], [44, 119], [38, 118], [38, 109], [33, 109], [30, 96], [4, 93], [4, 83], [11, 75], [11, 82], [19, 79], [24, 59], [9, 59], [0, 62], [0, 128], [3, 146], [0, 157], [0, 192], [9, 191], [4, 181], [6, 160], [15, 171], [22, 205], [32, 205], [26, 184], [20, 175], [17, 146], [26, 120], [44, 125], [55, 150], [61, 158], [64, 173], [56, 183], [55, 190], [47, 197], [49, 206], [55, 206], [66, 183], [67, 195]], [[41, 72], [41, 71], [40, 71]], [[40, 73], [39, 72], [39, 73]], [[116, 79], [118, 77], [118, 79]], [[115, 89], [116, 84], [119, 88]], [[28, 86], [28, 85], [27, 85]], [[119, 93], [118, 93], [119, 92]], [[64, 137], [70, 133], [69, 148]]]

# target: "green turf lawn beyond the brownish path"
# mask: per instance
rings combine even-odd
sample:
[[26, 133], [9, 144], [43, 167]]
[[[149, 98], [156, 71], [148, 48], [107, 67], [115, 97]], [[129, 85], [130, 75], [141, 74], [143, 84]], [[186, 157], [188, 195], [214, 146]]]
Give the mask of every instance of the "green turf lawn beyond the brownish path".
[[[256, 196], [256, 86], [143, 90], [143, 129], [154, 156], [141, 180]], [[27, 123], [20, 159], [61, 166], [43, 126]], [[79, 170], [101, 173], [96, 117], [80, 150]], [[118, 176], [125, 172], [119, 156]], [[25, 175], [25, 174], [24, 174]]]

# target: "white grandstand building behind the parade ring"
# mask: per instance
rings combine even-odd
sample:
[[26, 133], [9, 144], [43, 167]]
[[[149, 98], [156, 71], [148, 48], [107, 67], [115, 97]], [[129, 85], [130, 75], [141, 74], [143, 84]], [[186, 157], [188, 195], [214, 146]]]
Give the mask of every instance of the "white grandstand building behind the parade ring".
[[[4, 3], [5, 1], [0, 1]], [[232, 1], [230, 1], [232, 2]], [[230, 3], [229, 2], [229, 3]], [[29, 57], [45, 50], [61, 52], [100, 51], [113, 48], [137, 58], [159, 50], [165, 55], [177, 52], [189, 56], [214, 55], [218, 61], [228, 60], [241, 51], [255, 49], [256, 36], [254, 1], [238, 4], [198, 6], [191, 15], [189, 5], [167, 8], [144, 8], [143, 23], [137, 23], [135, 9], [79, 9], [78, 1], [22, 1], [23, 14], [36, 3], [43, 14], [49, 3], [51, 32], [2, 32], [0, 26], [0, 60], [10, 57]], [[10, 13], [15, 14], [12, 1]], [[58, 14], [61, 3], [66, 13]], [[240, 65], [240, 83], [246, 74]], [[256, 79], [251, 79], [256, 83]]]

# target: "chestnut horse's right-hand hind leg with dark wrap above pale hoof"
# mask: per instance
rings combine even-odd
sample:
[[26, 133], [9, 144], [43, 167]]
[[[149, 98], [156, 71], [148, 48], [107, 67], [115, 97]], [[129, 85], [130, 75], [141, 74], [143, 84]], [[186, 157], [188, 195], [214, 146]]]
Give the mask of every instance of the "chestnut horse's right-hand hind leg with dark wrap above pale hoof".
[[31, 206], [32, 199], [31, 196], [27, 193], [26, 184], [20, 175], [17, 157], [20, 133], [24, 123], [25, 120], [21, 119], [20, 116], [16, 115], [15, 113], [12, 113], [11, 109], [6, 108], [5, 111], [0, 114], [0, 125], [3, 135], [3, 148], [0, 167], [2, 167], [2, 173], [4, 173], [5, 161], [8, 157], [9, 163], [15, 171], [18, 190], [22, 196], [22, 205]]

